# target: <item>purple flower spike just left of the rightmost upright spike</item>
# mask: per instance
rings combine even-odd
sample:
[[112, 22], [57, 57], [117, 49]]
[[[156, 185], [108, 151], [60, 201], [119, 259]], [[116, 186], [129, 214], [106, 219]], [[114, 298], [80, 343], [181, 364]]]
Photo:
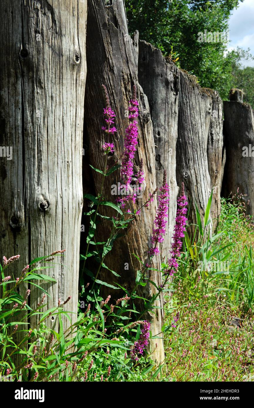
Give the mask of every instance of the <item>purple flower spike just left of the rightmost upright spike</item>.
[[149, 249], [149, 256], [158, 254], [159, 248], [157, 248], [158, 242], [164, 241], [164, 235], [166, 233], [167, 217], [168, 217], [168, 204], [169, 204], [169, 186], [167, 184], [167, 172], [164, 170], [163, 186], [160, 187], [160, 195], [158, 198], [159, 205], [156, 210], [156, 217], [154, 220], [155, 228], [153, 228], [152, 235], [152, 247]]

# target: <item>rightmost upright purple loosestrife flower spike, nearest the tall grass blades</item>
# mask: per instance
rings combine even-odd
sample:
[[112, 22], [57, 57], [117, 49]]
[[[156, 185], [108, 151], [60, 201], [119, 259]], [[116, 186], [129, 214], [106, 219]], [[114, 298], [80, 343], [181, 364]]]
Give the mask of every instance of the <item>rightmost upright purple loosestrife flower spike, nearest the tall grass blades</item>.
[[177, 258], [180, 256], [180, 249], [182, 248], [181, 239], [184, 237], [184, 231], [186, 231], [185, 225], [187, 218], [185, 217], [187, 213], [186, 206], [188, 202], [187, 197], [184, 192], [184, 184], [182, 183], [180, 197], [177, 199], [178, 209], [176, 211], [176, 225], [174, 226], [173, 244], [171, 252], [171, 259], [168, 259], [169, 268], [167, 273], [172, 276], [176, 273], [178, 268]]

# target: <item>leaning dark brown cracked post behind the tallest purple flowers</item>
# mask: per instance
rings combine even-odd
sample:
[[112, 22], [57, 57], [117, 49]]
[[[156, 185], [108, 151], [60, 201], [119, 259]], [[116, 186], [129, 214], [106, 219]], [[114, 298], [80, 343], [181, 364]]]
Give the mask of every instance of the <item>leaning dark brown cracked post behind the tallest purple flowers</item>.
[[[108, 160], [109, 167], [115, 160], [119, 160], [123, 152], [123, 139], [125, 128], [128, 126], [127, 107], [131, 98], [131, 88], [135, 84], [137, 87], [137, 98], [139, 101], [140, 116], [138, 119], [139, 142], [136, 152], [136, 165], [140, 159], [144, 160], [145, 185], [143, 199], [138, 200], [138, 204], [144, 203], [156, 187], [155, 177], [155, 148], [152, 121], [149, 113], [149, 104], [146, 95], [138, 84], [138, 33], [132, 41], [127, 29], [125, 6], [122, 0], [113, 0], [111, 5], [105, 6], [105, 1], [90, 0], [88, 4], [88, 24], [87, 24], [87, 86], [85, 92], [85, 126], [87, 129], [84, 137], [84, 144], [88, 145], [89, 155], [87, 160], [98, 168], [103, 168], [104, 155], [102, 144], [104, 134], [100, 130], [103, 122], [103, 107], [105, 106], [101, 84], [105, 84], [112, 109], [116, 113], [117, 135], [114, 137], [115, 153]], [[96, 52], [95, 52], [96, 50]], [[100, 188], [100, 175], [93, 173], [95, 190], [98, 193]], [[104, 188], [104, 195], [107, 200], [114, 202], [115, 196], [111, 195], [111, 185], [120, 182], [120, 172], [107, 177]], [[84, 190], [87, 190], [86, 180], [84, 180]], [[107, 213], [114, 215], [114, 211], [107, 210]], [[140, 263], [131, 254], [137, 254], [146, 263], [147, 245], [152, 233], [153, 220], [156, 213], [156, 203], [152, 203], [149, 209], [143, 209], [140, 216], [128, 228], [124, 237], [114, 242], [113, 250], [105, 258], [105, 264], [116, 271], [121, 277], [117, 278], [106, 269], [102, 269], [100, 279], [114, 285], [116, 279], [121, 286], [128, 290], [135, 285], [136, 271], [140, 270]], [[109, 236], [110, 225], [103, 222], [96, 228], [100, 241]], [[126, 230], [125, 230], [126, 231]], [[125, 265], [128, 264], [128, 270]], [[92, 267], [92, 266], [91, 266]], [[154, 258], [154, 267], [160, 268], [160, 260]], [[94, 269], [96, 265], [94, 265]], [[150, 273], [150, 279], [156, 284], [161, 284], [160, 273], [154, 271]], [[103, 288], [102, 288], [103, 289]], [[109, 294], [110, 288], [104, 287], [105, 297]], [[147, 284], [143, 288], [143, 295], [151, 297], [154, 286]], [[120, 297], [122, 291], [111, 290], [112, 299]], [[141, 293], [141, 292], [140, 292]], [[143, 303], [143, 302], [142, 302]], [[158, 306], [163, 306], [162, 297], [157, 302]], [[141, 304], [137, 305], [141, 308]], [[161, 332], [163, 312], [156, 309], [156, 314], [149, 316], [152, 319], [151, 331], [156, 336]], [[158, 337], [161, 337], [159, 335]], [[151, 350], [154, 352], [156, 361], [164, 360], [163, 341], [156, 338], [151, 341]]]

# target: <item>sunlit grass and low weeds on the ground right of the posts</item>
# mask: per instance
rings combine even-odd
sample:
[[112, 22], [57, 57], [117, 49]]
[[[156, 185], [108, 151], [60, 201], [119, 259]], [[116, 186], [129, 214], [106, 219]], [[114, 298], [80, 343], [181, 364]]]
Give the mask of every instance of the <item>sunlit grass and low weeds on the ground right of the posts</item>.
[[222, 199], [212, 238], [199, 228], [185, 234], [171, 284], [161, 380], [253, 381], [254, 227], [243, 196]]

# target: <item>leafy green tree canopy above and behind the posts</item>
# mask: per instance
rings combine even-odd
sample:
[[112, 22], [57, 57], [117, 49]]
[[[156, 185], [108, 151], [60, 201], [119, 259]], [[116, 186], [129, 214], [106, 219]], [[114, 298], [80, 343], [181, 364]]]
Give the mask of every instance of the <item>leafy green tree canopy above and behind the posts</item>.
[[197, 41], [198, 32], [227, 31], [230, 12], [240, 1], [129, 0], [129, 32], [138, 29], [140, 39], [158, 47], [164, 55], [172, 54], [174, 43], [178, 66], [196, 75], [201, 86], [216, 89], [223, 99], [228, 98], [233, 86], [244, 90], [246, 86], [248, 101], [252, 101], [252, 69], [233, 76], [233, 67], [240, 64], [239, 52], [225, 55], [226, 43]]

